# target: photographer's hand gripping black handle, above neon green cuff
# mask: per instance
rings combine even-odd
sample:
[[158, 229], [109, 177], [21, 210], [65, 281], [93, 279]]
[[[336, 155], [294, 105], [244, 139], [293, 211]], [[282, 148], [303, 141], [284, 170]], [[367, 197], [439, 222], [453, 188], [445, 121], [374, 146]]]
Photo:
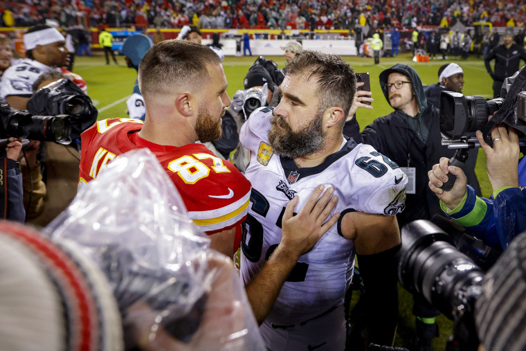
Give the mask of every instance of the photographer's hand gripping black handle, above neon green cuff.
[[[449, 209], [457, 207], [460, 201], [466, 195], [467, 179], [466, 174], [462, 168], [455, 167], [454, 165], [448, 166], [449, 159], [442, 157], [436, 165], [428, 172], [429, 188], [435, 192], [439, 199], [448, 206]], [[444, 191], [440, 187], [448, 181], [447, 174], [451, 173], [457, 177], [457, 180], [453, 184], [453, 188], [449, 191]]]

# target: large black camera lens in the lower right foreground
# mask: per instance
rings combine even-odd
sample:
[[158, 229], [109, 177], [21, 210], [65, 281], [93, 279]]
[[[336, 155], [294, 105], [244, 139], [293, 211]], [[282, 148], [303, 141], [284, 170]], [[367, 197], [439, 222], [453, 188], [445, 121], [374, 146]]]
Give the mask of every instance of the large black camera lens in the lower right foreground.
[[446, 350], [477, 350], [475, 301], [482, 294], [484, 269], [496, 262], [500, 252], [447, 223], [450, 235], [426, 220], [403, 226], [398, 277], [408, 291], [424, 296], [453, 320]]

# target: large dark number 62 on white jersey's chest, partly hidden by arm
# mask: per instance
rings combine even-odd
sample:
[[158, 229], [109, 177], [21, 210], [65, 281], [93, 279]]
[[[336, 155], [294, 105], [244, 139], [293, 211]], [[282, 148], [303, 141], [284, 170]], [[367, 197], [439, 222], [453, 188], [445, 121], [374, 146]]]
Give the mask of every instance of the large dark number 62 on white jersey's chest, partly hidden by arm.
[[[252, 188], [251, 199], [252, 206], [251, 209], [262, 217], [266, 217], [266, 214], [269, 212], [270, 204], [261, 192], [258, 192]], [[282, 208], [280, 215], [275, 223], [278, 228], [281, 228], [281, 221], [285, 208]], [[296, 213], [294, 213], [296, 215]], [[248, 230], [246, 226], [250, 228], [251, 237], [246, 242]], [[250, 213], [246, 216], [245, 222], [242, 226], [242, 240], [241, 240], [241, 250], [245, 255], [246, 259], [251, 262], [258, 262], [261, 258], [261, 253], [263, 249], [263, 226], [262, 224]], [[278, 247], [278, 244], [269, 246], [265, 253], [265, 260], [269, 260], [271, 254]], [[293, 267], [289, 276], [287, 276], [287, 282], [303, 282], [305, 281], [305, 276], [307, 276], [307, 270], [309, 269], [309, 264], [305, 262], [296, 262], [296, 265]]]

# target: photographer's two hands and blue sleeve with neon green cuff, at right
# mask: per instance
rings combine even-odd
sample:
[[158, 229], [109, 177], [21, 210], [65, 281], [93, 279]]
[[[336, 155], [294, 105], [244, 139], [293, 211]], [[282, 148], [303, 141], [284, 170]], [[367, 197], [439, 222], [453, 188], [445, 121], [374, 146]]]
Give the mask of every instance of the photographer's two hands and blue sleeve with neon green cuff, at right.
[[[526, 191], [519, 188], [519, 143], [516, 129], [499, 124], [491, 130], [493, 147], [477, 132], [477, 139], [486, 153], [488, 177], [493, 188], [489, 199], [477, 197], [471, 186], [466, 186], [462, 169], [448, 166], [449, 159], [442, 158], [428, 172], [429, 188], [437, 194], [444, 213], [469, 233], [491, 246], [506, 249], [509, 242], [526, 230]], [[523, 159], [522, 163], [525, 163]], [[453, 188], [440, 187], [448, 174], [457, 177]], [[526, 185], [526, 184], [521, 184]]]

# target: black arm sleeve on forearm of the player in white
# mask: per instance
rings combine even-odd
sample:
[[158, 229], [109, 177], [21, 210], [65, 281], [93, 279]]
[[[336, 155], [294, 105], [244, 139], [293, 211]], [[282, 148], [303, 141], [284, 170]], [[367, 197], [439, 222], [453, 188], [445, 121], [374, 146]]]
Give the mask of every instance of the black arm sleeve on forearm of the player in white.
[[363, 279], [368, 343], [392, 345], [398, 319], [397, 262], [401, 245], [374, 255], [356, 255]]

